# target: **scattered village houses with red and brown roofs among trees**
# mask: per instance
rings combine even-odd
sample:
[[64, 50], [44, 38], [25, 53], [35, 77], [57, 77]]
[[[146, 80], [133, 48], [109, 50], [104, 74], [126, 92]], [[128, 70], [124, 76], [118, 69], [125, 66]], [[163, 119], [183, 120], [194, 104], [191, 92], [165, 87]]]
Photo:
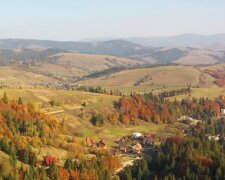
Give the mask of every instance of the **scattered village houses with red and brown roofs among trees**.
[[[225, 116], [224, 109], [221, 109], [220, 116]], [[188, 116], [181, 116], [178, 119], [178, 122], [185, 124], [183, 128], [178, 129], [183, 133], [184, 136], [191, 134], [193, 128], [197, 128], [203, 123], [201, 120], [197, 120]], [[225, 146], [225, 135], [206, 134], [205, 136], [209, 141], [221, 141]], [[113, 155], [130, 157], [129, 161], [122, 163], [122, 167], [117, 172], [123, 170], [123, 168], [127, 165], [133, 165], [133, 162], [140, 160], [144, 153], [150, 151], [157, 152], [161, 142], [163, 142], [163, 140], [155, 137], [153, 133], [140, 132], [133, 132], [131, 135], [115, 139], [113, 141], [113, 146], [108, 145], [107, 141], [103, 138], [98, 139], [94, 137], [86, 137], [84, 140], [84, 144], [87, 148], [105, 149], [109, 150]], [[59, 159], [57, 159], [57, 157], [54, 155], [48, 155], [45, 156], [42, 161], [39, 161], [36, 166], [38, 168], [45, 167], [45, 169], [48, 169], [52, 163], [57, 164], [58, 161]]]

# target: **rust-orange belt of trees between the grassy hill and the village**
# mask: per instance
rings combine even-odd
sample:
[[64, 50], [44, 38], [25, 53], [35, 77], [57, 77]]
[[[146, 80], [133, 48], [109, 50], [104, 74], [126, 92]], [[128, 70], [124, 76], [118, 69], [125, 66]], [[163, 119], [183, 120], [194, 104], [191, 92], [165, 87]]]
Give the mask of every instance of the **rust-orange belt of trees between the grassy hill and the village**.
[[[186, 90], [185, 90], [186, 91]], [[123, 96], [115, 103], [115, 111], [108, 117], [113, 124], [136, 125], [140, 120], [154, 123], [173, 123], [182, 116], [208, 121], [217, 117], [225, 107], [223, 96], [214, 100], [208, 98], [185, 98], [170, 101], [162, 96], [146, 93]]]

